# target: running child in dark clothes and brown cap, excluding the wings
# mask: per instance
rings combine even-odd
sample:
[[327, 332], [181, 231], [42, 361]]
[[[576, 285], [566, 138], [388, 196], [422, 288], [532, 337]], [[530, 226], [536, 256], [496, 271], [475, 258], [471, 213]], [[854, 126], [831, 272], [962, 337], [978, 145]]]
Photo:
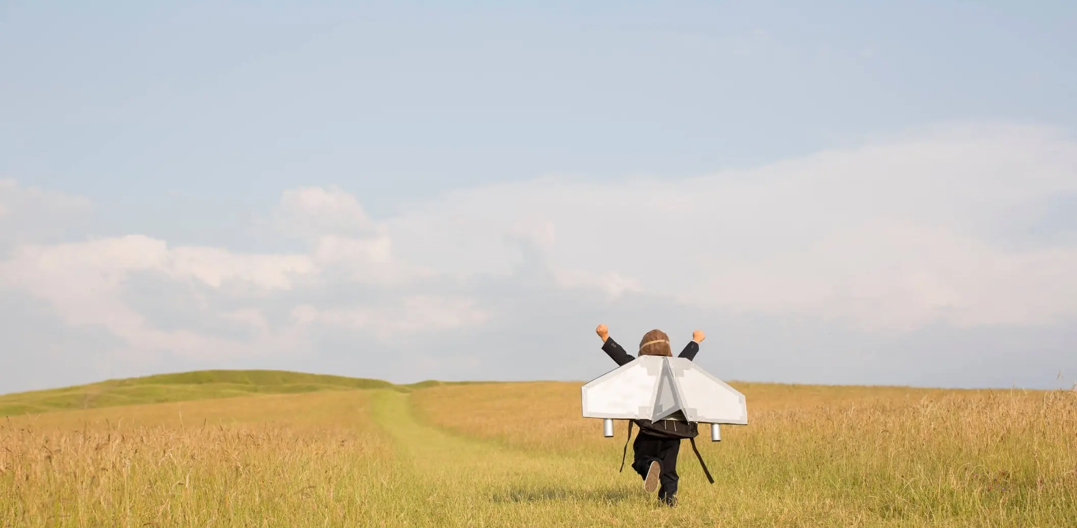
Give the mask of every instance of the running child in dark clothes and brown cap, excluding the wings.
[[[602, 351], [610, 355], [618, 366], [635, 359], [629, 356], [616, 341], [610, 339], [610, 330], [605, 325], [599, 325], [595, 331], [602, 338]], [[699, 343], [704, 336], [700, 330], [691, 332], [689, 342], [679, 357], [691, 360], [699, 352]], [[651, 330], [640, 340], [637, 356], [673, 356], [669, 336], [661, 330]], [[696, 436], [695, 424], [673, 419], [661, 419], [655, 423], [645, 419], [632, 420], [640, 427], [640, 433], [632, 442], [634, 460], [632, 469], [643, 477], [643, 489], [648, 494], [658, 489], [658, 499], [671, 506], [676, 505], [676, 456], [681, 449], [681, 439]], [[661, 481], [661, 487], [658, 483]]]

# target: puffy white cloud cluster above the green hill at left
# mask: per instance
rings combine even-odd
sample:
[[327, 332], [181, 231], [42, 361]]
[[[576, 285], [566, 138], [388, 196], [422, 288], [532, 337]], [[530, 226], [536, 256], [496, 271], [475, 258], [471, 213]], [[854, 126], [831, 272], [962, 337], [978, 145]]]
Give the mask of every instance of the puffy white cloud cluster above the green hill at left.
[[[277, 300], [275, 292], [294, 290], [297, 280], [305, 289], [332, 290], [349, 283], [387, 286], [422, 276], [421, 270], [394, 260], [390, 239], [365, 218], [351, 196], [319, 188], [288, 190], [281, 210], [297, 219], [295, 226], [326, 231], [306, 231], [312, 239], [309, 254], [249, 255], [219, 247], [169, 247], [164, 240], [140, 234], [23, 243], [0, 261], [0, 290], [23, 290], [47, 301], [68, 325], [107, 328], [127, 343], [130, 352], [168, 351], [187, 357], [303, 352], [309, 349], [312, 338], [306, 325], [316, 320], [325, 326], [369, 329], [378, 339], [393, 339], [393, 332], [404, 329], [423, 333], [485, 320], [486, 314], [471, 301], [412, 296], [390, 306], [314, 310], [300, 305], [292, 311], [291, 323], [270, 324], [264, 310], [286, 302]], [[349, 227], [365, 231], [339, 234]], [[253, 329], [253, 333], [223, 338], [198, 328], [163, 329], [154, 324], [152, 314], [125, 300], [125, 288], [136, 273], [187, 285], [162, 294], [171, 296], [163, 302], [186, 306], [186, 317], [232, 323]], [[218, 300], [206, 299], [199, 285], [218, 291]], [[228, 308], [235, 304], [246, 308]]]

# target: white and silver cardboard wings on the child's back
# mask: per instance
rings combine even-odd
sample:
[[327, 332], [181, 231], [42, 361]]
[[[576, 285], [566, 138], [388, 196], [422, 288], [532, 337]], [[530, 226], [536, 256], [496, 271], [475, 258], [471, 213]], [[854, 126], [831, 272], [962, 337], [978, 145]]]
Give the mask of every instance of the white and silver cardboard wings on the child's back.
[[643, 356], [581, 390], [586, 418], [747, 424], [744, 395], [686, 358]]

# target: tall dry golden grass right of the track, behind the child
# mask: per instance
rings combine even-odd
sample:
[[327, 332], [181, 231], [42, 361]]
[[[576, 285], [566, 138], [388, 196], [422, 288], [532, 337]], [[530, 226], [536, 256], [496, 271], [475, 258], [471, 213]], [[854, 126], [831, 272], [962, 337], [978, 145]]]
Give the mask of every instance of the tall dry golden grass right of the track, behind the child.
[[[750, 425], [723, 427], [717, 444], [697, 442], [718, 482], [700, 477], [689, 449], [680, 462], [682, 490], [730, 518], [1077, 526], [1077, 394], [738, 388]], [[610, 440], [601, 420], [579, 417], [575, 383], [436, 387], [412, 398], [440, 427], [521, 448], [619, 456], [625, 441], [625, 423]]]

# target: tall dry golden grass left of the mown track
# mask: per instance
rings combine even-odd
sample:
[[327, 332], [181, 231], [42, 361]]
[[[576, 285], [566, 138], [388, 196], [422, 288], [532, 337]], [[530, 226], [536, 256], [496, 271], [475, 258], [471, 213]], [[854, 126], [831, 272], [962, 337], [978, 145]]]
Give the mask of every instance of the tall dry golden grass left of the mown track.
[[0, 526], [340, 525], [381, 501], [364, 474], [390, 451], [365, 396], [9, 418], [0, 426]]

